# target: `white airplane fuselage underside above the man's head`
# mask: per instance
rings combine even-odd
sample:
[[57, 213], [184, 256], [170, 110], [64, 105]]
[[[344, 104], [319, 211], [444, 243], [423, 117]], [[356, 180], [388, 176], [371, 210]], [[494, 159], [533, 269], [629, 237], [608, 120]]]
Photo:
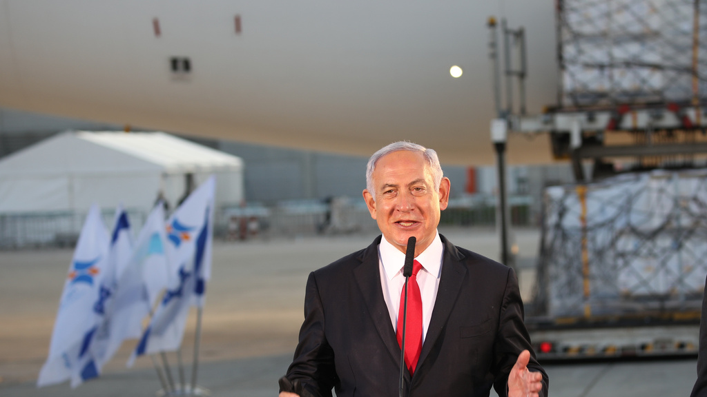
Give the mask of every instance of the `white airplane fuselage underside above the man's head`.
[[[0, 0], [0, 106], [358, 155], [407, 139], [490, 164], [486, 20], [525, 27], [537, 112], [556, 97], [553, 3]], [[509, 162], [549, 162], [547, 141]]]

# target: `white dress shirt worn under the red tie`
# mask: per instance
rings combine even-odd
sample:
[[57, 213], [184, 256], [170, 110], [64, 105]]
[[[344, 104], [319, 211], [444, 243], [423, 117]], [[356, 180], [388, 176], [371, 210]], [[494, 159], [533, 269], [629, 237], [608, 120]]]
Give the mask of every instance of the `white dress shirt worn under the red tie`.
[[[429, 247], [415, 258], [422, 265], [421, 271], [417, 273], [417, 284], [420, 287], [420, 295], [422, 296], [423, 343], [427, 335], [427, 328], [430, 325], [432, 309], [437, 299], [437, 289], [440, 284], [440, 274], [442, 273], [443, 253], [444, 246], [439, 233], [437, 233]], [[390, 244], [390, 242], [387, 242], [385, 236], [383, 236], [378, 245], [378, 268], [380, 269], [380, 286], [383, 290], [383, 299], [388, 307], [393, 331], [397, 331], [400, 294], [405, 284], [405, 278], [402, 275], [404, 262], [405, 254]], [[412, 283], [412, 280], [410, 280], [410, 283]]]

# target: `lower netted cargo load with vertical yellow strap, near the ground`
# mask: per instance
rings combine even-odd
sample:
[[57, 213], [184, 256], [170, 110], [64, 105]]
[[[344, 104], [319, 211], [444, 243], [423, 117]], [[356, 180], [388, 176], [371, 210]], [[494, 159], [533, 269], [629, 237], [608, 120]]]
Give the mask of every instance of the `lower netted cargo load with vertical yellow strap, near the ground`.
[[536, 308], [553, 317], [699, 309], [707, 170], [624, 174], [544, 192]]

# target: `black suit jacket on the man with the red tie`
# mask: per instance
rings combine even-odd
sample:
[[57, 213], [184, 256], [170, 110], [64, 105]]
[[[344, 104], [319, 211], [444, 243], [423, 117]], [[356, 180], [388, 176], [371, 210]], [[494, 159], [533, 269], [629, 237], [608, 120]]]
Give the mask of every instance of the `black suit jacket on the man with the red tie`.
[[[380, 236], [368, 248], [310, 273], [305, 321], [287, 377], [315, 396], [397, 396], [400, 348], [383, 300]], [[406, 396], [506, 396], [520, 352], [535, 360], [518, 280], [511, 268], [444, 244], [434, 309], [414, 376], [404, 370]], [[402, 263], [401, 263], [402, 266]]]

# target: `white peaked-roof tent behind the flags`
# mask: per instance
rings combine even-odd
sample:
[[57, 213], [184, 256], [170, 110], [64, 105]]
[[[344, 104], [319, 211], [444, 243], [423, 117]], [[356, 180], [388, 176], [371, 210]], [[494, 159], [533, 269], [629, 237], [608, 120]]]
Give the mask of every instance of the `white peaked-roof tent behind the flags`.
[[216, 205], [243, 200], [243, 161], [175, 136], [68, 131], [0, 160], [0, 214], [149, 210], [161, 194], [170, 208], [216, 175]]

